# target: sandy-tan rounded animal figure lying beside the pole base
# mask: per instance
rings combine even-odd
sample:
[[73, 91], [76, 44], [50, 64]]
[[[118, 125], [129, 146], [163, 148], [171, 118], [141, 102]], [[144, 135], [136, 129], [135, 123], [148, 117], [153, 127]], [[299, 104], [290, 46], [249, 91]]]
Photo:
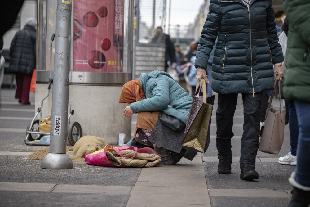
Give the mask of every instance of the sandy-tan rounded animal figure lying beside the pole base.
[[93, 153], [97, 150], [101, 150], [104, 146], [107, 145], [107, 142], [100, 137], [95, 136], [84, 136], [81, 137], [78, 142], [73, 146], [72, 155], [74, 157], [84, 158], [84, 155]]

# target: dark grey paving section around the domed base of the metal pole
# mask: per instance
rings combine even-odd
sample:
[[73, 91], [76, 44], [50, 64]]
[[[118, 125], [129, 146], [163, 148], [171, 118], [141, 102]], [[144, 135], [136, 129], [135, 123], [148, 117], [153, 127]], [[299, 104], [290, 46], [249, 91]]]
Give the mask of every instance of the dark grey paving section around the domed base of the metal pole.
[[79, 185], [134, 186], [141, 168], [113, 168], [73, 162], [74, 169], [40, 168], [42, 160], [0, 156], [0, 182], [34, 182]]

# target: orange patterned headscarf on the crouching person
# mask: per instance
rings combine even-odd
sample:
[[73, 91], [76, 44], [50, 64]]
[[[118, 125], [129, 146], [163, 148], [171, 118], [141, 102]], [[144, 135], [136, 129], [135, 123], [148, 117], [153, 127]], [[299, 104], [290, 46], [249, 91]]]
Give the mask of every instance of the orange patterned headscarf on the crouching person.
[[131, 80], [123, 85], [121, 94], [119, 95], [119, 103], [133, 103], [145, 99], [144, 92], [141, 87], [140, 78]]

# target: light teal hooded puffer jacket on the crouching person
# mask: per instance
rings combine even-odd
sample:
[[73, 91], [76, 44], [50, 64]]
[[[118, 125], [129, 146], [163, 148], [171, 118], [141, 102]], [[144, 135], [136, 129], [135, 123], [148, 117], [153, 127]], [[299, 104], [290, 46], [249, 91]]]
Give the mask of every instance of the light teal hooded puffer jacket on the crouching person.
[[159, 70], [142, 73], [140, 81], [146, 99], [130, 105], [134, 113], [161, 110], [186, 124], [193, 99], [169, 74]]

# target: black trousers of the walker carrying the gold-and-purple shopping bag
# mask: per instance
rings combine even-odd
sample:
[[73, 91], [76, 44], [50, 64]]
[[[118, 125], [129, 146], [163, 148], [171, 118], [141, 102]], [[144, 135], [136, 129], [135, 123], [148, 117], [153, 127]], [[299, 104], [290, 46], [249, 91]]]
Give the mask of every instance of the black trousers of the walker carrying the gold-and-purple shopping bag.
[[[233, 116], [236, 111], [238, 94], [218, 94], [216, 110], [216, 148], [220, 155], [231, 155], [231, 138], [233, 137]], [[259, 116], [263, 92], [242, 94], [243, 100], [243, 134], [241, 137], [240, 166], [255, 166], [259, 148]]]

